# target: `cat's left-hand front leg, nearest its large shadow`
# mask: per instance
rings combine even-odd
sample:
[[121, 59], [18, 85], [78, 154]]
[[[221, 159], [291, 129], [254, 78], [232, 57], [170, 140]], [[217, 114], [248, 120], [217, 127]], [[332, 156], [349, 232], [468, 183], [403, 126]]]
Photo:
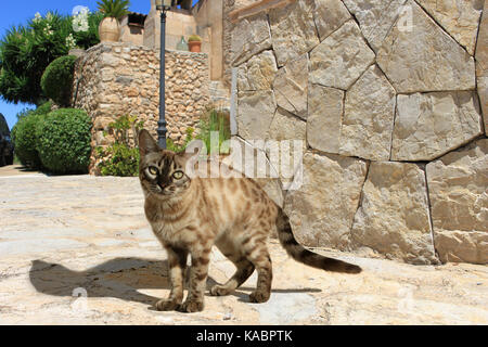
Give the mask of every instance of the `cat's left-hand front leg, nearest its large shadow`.
[[183, 301], [184, 269], [187, 268], [188, 252], [171, 246], [165, 247], [168, 253], [168, 270], [171, 292], [167, 299], [156, 303], [158, 311], [174, 311]]

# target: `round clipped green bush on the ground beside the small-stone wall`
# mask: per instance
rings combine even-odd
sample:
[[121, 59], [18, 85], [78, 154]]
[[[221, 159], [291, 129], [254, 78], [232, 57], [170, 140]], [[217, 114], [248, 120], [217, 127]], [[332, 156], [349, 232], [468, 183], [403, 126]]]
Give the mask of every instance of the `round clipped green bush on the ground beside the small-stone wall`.
[[36, 129], [42, 165], [54, 174], [85, 174], [91, 153], [91, 119], [82, 110], [60, 108]]

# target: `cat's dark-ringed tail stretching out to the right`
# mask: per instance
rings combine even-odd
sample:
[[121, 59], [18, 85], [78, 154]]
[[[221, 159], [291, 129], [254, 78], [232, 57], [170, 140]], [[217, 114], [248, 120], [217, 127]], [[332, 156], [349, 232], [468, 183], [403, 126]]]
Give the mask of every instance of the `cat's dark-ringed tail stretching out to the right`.
[[328, 258], [317, 253], [310, 252], [301, 246], [293, 235], [288, 217], [280, 208], [277, 217], [278, 239], [286, 253], [296, 261], [308, 265], [312, 268], [323, 269], [334, 272], [359, 273], [361, 268], [342, 260]]

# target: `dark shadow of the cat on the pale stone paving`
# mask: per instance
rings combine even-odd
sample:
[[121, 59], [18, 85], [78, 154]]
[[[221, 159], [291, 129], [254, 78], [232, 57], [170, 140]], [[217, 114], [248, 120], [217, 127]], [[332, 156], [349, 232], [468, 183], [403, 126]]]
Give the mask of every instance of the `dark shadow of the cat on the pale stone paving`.
[[[115, 258], [76, 271], [60, 264], [34, 260], [29, 270], [29, 280], [37, 292], [54, 295], [76, 297], [113, 297], [127, 301], [146, 304], [154, 309], [160, 297], [142, 293], [140, 290], [169, 290], [168, 265], [166, 260], [144, 258]], [[217, 282], [208, 277], [207, 293]], [[233, 293], [240, 301], [248, 303], [251, 287], [240, 287]], [[150, 291], [151, 292], [151, 291]], [[273, 292], [321, 292], [320, 290], [273, 290]], [[159, 295], [159, 294], [158, 294]], [[166, 294], [165, 294], [166, 295]]]

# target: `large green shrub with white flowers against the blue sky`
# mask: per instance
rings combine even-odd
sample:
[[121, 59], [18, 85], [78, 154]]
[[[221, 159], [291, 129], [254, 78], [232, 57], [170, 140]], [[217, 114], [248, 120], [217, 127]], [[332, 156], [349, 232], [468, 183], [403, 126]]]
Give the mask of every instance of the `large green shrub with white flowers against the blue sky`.
[[[13, 103], [39, 105], [46, 101], [40, 80], [46, 67], [56, 57], [79, 47], [88, 49], [100, 42], [100, 12], [88, 13], [82, 30], [74, 29], [70, 15], [49, 12], [27, 24], [13, 26], [0, 39], [0, 97]], [[78, 17], [79, 18], [79, 17]]]

